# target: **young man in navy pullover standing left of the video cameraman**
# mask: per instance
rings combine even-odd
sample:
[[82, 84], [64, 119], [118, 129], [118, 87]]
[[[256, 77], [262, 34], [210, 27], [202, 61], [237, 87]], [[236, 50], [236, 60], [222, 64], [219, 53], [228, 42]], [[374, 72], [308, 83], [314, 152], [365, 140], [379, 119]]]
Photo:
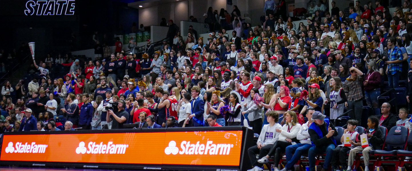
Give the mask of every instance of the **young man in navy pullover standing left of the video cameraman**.
[[93, 118], [94, 107], [89, 102], [89, 94], [84, 93], [82, 96], [83, 105], [80, 108], [79, 127], [83, 130], [90, 130], [91, 119]]

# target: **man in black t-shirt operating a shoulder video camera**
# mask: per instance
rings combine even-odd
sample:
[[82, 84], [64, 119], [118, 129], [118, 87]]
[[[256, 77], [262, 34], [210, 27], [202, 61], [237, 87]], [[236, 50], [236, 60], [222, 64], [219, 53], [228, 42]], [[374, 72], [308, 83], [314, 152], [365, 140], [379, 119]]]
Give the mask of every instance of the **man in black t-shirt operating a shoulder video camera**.
[[[108, 111], [106, 121], [113, 121], [112, 129], [123, 129], [123, 124], [126, 123], [126, 120], [129, 118], [129, 113], [124, 110], [126, 102], [124, 100], [119, 100], [119, 102], [111, 103], [111, 105], [112, 107], [106, 107], [106, 110]], [[114, 108], [117, 108], [117, 110], [113, 110]]]

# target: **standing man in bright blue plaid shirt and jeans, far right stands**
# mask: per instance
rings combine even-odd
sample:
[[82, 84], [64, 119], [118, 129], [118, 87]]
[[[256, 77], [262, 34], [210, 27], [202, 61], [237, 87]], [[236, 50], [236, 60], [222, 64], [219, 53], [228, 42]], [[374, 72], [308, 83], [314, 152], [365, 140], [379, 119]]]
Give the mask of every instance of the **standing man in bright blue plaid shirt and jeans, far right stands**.
[[389, 88], [399, 87], [399, 76], [402, 72], [402, 61], [403, 55], [400, 48], [395, 46], [396, 38], [388, 38], [388, 61], [385, 62], [388, 66], [386, 67], [386, 74], [388, 75]]

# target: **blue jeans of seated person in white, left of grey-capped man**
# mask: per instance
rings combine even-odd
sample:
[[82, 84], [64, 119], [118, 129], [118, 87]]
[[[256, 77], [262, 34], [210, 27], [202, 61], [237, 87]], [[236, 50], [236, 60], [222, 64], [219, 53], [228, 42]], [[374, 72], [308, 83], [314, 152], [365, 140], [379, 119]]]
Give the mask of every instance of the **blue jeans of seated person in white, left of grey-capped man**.
[[285, 166], [286, 170], [293, 170], [293, 166], [300, 159], [302, 153], [306, 153], [311, 147], [312, 144], [301, 143], [286, 147], [286, 161], [288, 162]]

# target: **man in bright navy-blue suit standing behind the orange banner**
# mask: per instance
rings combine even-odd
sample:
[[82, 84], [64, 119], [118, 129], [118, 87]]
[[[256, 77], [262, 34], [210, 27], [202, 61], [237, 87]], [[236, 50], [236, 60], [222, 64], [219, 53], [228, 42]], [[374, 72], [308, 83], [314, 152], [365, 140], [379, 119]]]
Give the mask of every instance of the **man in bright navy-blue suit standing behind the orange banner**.
[[192, 102], [190, 104], [192, 105], [192, 114], [189, 115], [189, 119], [193, 118], [193, 126], [204, 126], [204, 119], [203, 119], [203, 113], [204, 111], [204, 105], [205, 103], [203, 102], [203, 99], [199, 97], [200, 94], [200, 89], [197, 86], [192, 87]]

